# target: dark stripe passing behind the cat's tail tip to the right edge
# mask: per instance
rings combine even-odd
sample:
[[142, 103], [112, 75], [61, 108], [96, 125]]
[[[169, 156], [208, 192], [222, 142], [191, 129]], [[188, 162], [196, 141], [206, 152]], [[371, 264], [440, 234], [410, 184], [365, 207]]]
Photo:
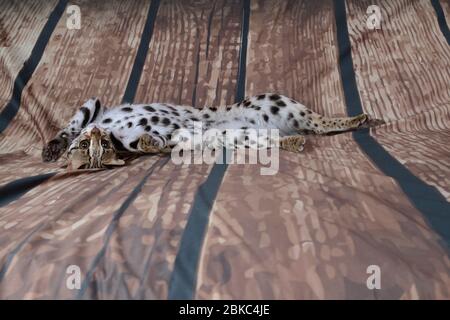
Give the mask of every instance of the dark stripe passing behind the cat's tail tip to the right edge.
[[[334, 13], [339, 47], [339, 66], [347, 111], [350, 116], [363, 112], [356, 84], [350, 37], [344, 0], [335, 0]], [[392, 177], [407, 195], [411, 203], [424, 215], [428, 223], [439, 234], [443, 244], [450, 247], [450, 203], [436, 190], [412, 174], [397, 159], [391, 156], [371, 135], [369, 129], [353, 132], [358, 146], [387, 176]]]

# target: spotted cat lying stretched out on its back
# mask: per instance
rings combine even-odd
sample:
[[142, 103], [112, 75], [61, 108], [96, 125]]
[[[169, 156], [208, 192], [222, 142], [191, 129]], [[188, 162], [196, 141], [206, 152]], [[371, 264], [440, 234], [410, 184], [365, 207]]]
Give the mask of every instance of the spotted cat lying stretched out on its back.
[[369, 124], [365, 114], [329, 118], [293, 99], [272, 93], [249, 97], [230, 106], [203, 109], [166, 103], [125, 104], [104, 109], [93, 98], [48, 143], [42, 158], [56, 161], [68, 148], [69, 158], [78, 159], [75, 169], [118, 165], [122, 162], [113, 155], [116, 151], [168, 151], [179, 142], [179, 137], [174, 135], [177, 129], [192, 131], [194, 123], [200, 121], [203, 131], [242, 129], [243, 136], [249, 129], [278, 129], [280, 147], [290, 151], [303, 149], [306, 133], [328, 134]]

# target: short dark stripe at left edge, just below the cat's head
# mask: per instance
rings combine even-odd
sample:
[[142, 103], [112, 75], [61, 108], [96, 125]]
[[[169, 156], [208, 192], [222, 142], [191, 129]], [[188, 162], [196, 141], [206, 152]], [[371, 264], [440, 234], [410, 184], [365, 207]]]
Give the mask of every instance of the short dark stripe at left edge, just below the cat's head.
[[53, 177], [56, 172], [17, 179], [0, 187], [0, 207], [6, 206], [25, 193]]

